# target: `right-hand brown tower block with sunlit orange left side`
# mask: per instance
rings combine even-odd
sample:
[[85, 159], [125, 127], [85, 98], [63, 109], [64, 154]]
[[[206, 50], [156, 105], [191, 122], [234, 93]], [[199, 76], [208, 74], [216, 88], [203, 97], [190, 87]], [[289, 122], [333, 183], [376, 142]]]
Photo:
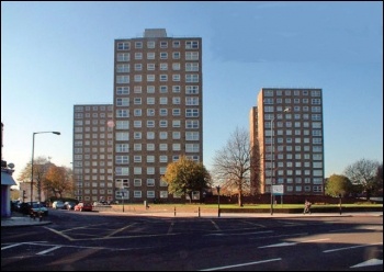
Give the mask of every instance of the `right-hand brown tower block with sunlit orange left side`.
[[253, 192], [324, 194], [323, 90], [262, 88], [250, 111]]

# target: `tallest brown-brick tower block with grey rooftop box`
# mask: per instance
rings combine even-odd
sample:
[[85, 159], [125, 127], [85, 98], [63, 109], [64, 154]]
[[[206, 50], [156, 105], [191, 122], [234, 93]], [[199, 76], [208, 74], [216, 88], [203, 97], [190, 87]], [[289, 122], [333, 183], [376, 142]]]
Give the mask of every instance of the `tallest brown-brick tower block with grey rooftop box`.
[[163, 29], [114, 42], [115, 199], [166, 200], [168, 163], [203, 161], [202, 38]]

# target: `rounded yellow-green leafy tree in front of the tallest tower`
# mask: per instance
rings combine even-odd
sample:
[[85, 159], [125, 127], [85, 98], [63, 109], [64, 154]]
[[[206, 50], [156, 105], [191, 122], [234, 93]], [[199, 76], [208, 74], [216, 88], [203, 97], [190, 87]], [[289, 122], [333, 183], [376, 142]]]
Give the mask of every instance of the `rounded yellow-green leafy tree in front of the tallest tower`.
[[192, 192], [210, 188], [211, 175], [202, 162], [195, 162], [182, 156], [167, 166], [162, 179], [168, 183], [168, 192], [185, 194], [192, 202]]

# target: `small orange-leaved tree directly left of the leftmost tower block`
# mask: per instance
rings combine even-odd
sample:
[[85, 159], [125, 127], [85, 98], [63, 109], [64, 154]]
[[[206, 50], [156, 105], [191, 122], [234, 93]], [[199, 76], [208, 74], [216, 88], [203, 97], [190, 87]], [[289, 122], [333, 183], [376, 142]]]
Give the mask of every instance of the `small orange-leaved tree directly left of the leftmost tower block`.
[[50, 166], [44, 180], [44, 189], [61, 199], [65, 193], [72, 192], [74, 182], [71, 169], [67, 167]]

